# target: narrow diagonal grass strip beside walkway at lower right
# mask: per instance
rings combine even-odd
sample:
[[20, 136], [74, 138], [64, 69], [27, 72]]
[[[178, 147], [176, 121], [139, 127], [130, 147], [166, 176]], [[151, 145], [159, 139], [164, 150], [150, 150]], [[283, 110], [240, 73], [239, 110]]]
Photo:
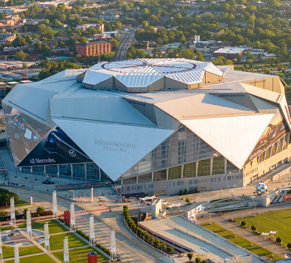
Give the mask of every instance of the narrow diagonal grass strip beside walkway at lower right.
[[[202, 224], [203, 227], [207, 228], [208, 230], [211, 230], [212, 232], [228, 239], [229, 241], [237, 244], [240, 247], [243, 247], [259, 256], [267, 256], [268, 258], [272, 257], [272, 252], [266, 248], [260, 247], [259, 245], [253, 243], [253, 246], [251, 246], [251, 242], [247, 239], [243, 238], [242, 236], [236, 235], [234, 237], [234, 233], [219, 226], [218, 224], [211, 223], [205, 223]], [[280, 256], [274, 254], [274, 260], [282, 259]]]

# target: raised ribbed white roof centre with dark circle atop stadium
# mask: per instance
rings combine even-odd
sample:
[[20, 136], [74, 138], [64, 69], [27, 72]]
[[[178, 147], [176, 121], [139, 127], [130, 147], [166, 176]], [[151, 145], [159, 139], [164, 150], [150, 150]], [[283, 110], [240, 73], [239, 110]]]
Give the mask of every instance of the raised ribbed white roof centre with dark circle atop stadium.
[[163, 77], [192, 84], [202, 82], [206, 71], [223, 75], [222, 71], [208, 62], [179, 58], [132, 59], [98, 63], [86, 71], [83, 83], [98, 84], [114, 76], [127, 87], [146, 87]]

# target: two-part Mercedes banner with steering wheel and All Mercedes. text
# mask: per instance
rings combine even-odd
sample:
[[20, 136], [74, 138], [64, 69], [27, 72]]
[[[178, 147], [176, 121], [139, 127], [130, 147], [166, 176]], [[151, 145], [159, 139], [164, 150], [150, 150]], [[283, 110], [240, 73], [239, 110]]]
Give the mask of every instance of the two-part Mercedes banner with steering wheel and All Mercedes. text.
[[51, 128], [5, 104], [3, 111], [16, 166], [92, 162], [59, 127]]

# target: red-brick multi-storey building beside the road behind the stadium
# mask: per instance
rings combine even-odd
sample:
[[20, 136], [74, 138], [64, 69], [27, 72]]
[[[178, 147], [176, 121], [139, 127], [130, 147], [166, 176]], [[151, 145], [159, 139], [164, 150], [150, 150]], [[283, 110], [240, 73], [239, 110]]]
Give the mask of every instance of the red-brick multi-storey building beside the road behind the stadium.
[[76, 53], [86, 59], [88, 56], [97, 56], [111, 52], [111, 42], [105, 40], [91, 41], [86, 43], [77, 43]]

